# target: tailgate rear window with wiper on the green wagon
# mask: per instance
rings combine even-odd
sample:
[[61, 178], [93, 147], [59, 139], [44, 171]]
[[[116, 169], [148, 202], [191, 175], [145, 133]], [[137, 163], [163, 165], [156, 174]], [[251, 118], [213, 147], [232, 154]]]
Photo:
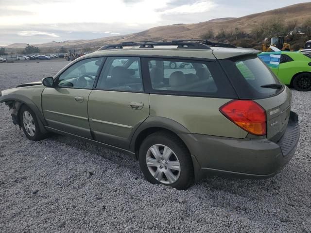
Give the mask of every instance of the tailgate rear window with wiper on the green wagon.
[[262, 87], [280, 84], [276, 75], [256, 55], [220, 60], [241, 99], [262, 99], [281, 89]]

